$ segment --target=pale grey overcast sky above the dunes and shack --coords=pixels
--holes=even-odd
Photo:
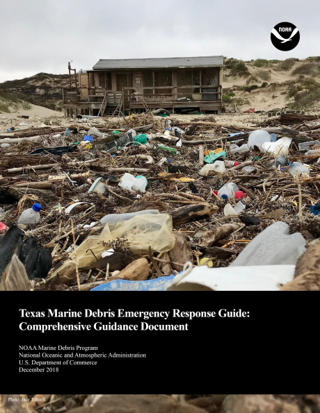
[[[1,1],[0,82],[92,69],[99,58],[223,55],[243,60],[320,56],[317,0]],[[273,47],[280,22],[296,49]]]

